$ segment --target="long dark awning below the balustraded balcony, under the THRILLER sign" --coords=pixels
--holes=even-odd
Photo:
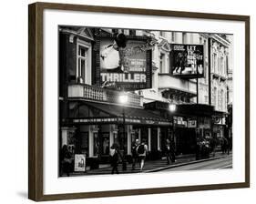
[[[170,126],[169,119],[160,117],[150,110],[136,107],[121,107],[103,103],[83,101],[82,106],[97,109],[97,116],[70,118],[71,123],[77,124],[122,124],[125,116],[125,124],[140,124],[151,126]],[[81,105],[79,105],[81,106]],[[100,112],[102,114],[100,114]],[[124,115],[123,115],[124,113]]]

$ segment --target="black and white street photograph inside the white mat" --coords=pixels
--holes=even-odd
[[[233,35],[58,26],[59,177],[232,168]]]

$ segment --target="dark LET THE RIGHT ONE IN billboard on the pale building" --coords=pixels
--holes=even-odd
[[[171,74],[180,77],[203,77],[203,45],[171,45]]]

